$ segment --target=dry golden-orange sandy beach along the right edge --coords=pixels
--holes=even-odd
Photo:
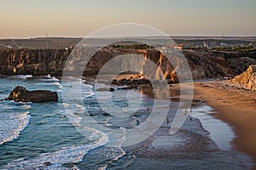
[[[214,116],[234,127],[236,139],[232,143],[237,150],[252,156],[255,164],[256,93],[232,85],[229,82],[195,82],[194,99],[205,100],[219,112]]]

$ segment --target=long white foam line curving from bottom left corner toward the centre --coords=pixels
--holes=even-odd
[[[65,167],[62,167],[63,164],[78,163],[79,161],[83,160],[83,157],[88,153],[88,151],[94,150],[108,143],[108,134],[102,133],[101,131],[91,127],[82,127],[79,124],[82,119],[81,115],[84,111],[84,107],[82,105],[70,105],[66,103],[64,103],[64,105],[69,108],[67,110],[67,116],[69,116],[70,120],[73,122],[74,126],[78,129],[80,133],[88,134],[87,136],[90,140],[90,143],[65,147],[55,152],[41,154],[29,160],[11,161],[5,167],[6,169],[65,169]],[[50,165],[44,166],[44,162],[50,162]]]

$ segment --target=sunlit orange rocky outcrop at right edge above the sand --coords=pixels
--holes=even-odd
[[[247,71],[233,78],[231,82],[246,84],[247,88],[256,90],[256,65],[250,65]]]

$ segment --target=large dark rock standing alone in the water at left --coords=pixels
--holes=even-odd
[[[58,101],[58,95],[56,92],[51,92],[49,90],[28,91],[22,86],[16,86],[9,94],[8,100],[43,103],[48,101]]]

